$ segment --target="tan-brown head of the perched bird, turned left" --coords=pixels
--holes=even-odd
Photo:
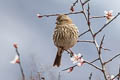
[[[57,25],[61,25],[61,24],[72,24],[72,19],[70,17],[68,17],[65,14],[61,14],[57,17],[56,19],[56,24]]]

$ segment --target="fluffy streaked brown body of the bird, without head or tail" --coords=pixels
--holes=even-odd
[[[69,49],[78,40],[78,29],[74,24],[56,25],[53,41],[57,47]]]

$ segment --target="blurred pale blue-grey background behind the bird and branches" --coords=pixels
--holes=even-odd
[[[58,80],[58,74],[62,69],[72,66],[70,57],[64,52],[60,68],[53,68],[52,64],[56,56],[56,47],[52,41],[56,17],[39,19],[36,14],[68,13],[76,0],[0,0],[0,80],[21,80],[18,64],[11,64],[16,55],[13,43],[16,42],[21,54],[21,63],[26,79],[37,76],[37,72],[46,80]],[[84,1],[84,0],[83,0]],[[120,12],[120,0],[91,0],[90,11],[92,16],[103,16],[104,11],[113,10],[113,15]],[[75,6],[75,11],[81,11],[81,5]],[[78,26],[80,33],[87,30],[84,16],[81,14],[69,15],[73,23]],[[106,19],[93,19],[91,25],[96,32],[106,23]],[[103,51],[103,59],[108,60],[120,53],[120,17],[115,19],[107,28],[97,36],[98,43],[105,34],[104,47],[112,51]],[[91,40],[90,34],[79,38]],[[88,61],[95,59],[97,55],[93,44],[78,43],[72,50],[81,53]],[[99,65],[99,62],[95,62]],[[118,73],[120,57],[109,63],[107,72],[112,75]],[[71,73],[61,72],[61,80],[88,80],[93,73],[93,80],[103,80],[101,72],[85,64],[76,67]]]

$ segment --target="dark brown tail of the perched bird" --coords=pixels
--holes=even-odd
[[[61,57],[62,57],[62,52],[63,51],[64,51],[63,49],[58,48],[57,55],[56,55],[56,58],[55,58],[53,66],[57,66],[57,67],[60,66],[60,64],[61,64]]]

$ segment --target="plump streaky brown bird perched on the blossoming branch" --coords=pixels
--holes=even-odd
[[[65,15],[59,14],[56,19],[56,27],[53,33],[53,42],[57,47],[57,54],[53,66],[61,65],[62,53],[72,48],[78,41],[78,28],[73,24],[72,19]]]

